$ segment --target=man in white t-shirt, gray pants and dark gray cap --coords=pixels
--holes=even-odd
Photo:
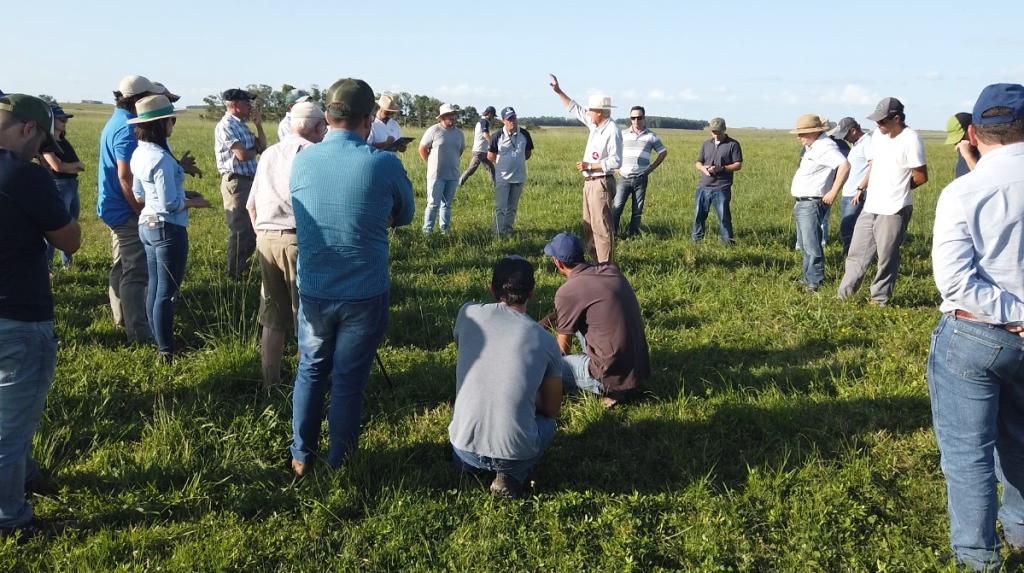
[[[867,119],[878,124],[879,133],[871,138],[871,164],[855,196],[868,186],[871,192],[853,228],[839,298],[848,299],[860,289],[867,267],[878,256],[870,303],[886,306],[896,286],[899,248],[913,212],[911,190],[928,182],[928,166],[925,143],[918,132],[906,126],[900,100],[886,97]]]

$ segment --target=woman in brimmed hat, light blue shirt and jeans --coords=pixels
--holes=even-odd
[[[171,362],[174,352],[174,302],[188,258],[188,209],[208,208],[202,195],[185,191],[184,170],[171,155],[167,138],[176,112],[163,95],[151,95],[135,104],[138,147],[131,157],[135,181],[132,190],[145,207],[138,218],[138,235],[145,248],[150,284],[145,314],[161,358]]]

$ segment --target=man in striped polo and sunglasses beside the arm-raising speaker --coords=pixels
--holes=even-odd
[[[662,143],[653,131],[647,129],[647,112],[643,105],[634,105],[630,109],[630,129],[623,132],[623,166],[618,168],[618,186],[615,187],[615,200],[612,205],[615,219],[615,233],[618,233],[618,220],[626,208],[626,200],[632,199],[633,214],[630,218],[630,229],[626,236],[640,234],[640,218],[647,199],[647,176],[665,158],[669,149]],[[657,153],[654,163],[650,163],[650,153]]]

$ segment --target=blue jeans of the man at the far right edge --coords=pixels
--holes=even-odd
[[[1024,339],[944,316],[932,334],[928,389],[946,478],[956,559],[999,568],[1001,543],[1024,547]],[[996,480],[1002,482],[999,506]]]

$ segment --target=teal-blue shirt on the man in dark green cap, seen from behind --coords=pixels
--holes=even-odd
[[[406,168],[344,129],[292,163],[292,206],[299,247],[299,294],[362,301],[391,286],[388,228],[413,220],[416,200]]]

